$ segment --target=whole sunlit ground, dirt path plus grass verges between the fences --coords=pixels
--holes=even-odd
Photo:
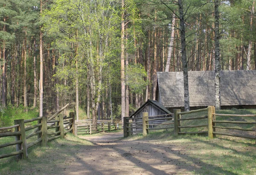
[[[253,140],[208,140],[207,136],[175,138],[166,133],[145,138],[122,138],[122,132],[81,135],[79,138],[69,134],[66,139],[49,142],[47,147],[32,149],[28,161],[0,162],[0,174],[256,175]],[[15,164],[14,169],[12,164]]]

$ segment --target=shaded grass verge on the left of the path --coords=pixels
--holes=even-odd
[[[19,171],[21,170],[22,174],[44,174],[42,171],[45,171],[45,167],[47,167],[50,174],[53,172],[58,174],[58,168],[55,165],[70,164],[70,162],[65,162],[65,160],[75,152],[78,152],[84,145],[92,146],[93,143],[68,133],[66,139],[50,141],[47,147],[33,146],[30,148],[27,161],[16,161],[15,157],[0,159],[0,174],[20,174]],[[54,161],[54,159],[57,161]]]

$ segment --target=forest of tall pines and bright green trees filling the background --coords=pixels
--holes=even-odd
[[[131,115],[157,72],[215,69],[216,3],[220,70],[256,69],[254,0],[0,0],[1,111]]]

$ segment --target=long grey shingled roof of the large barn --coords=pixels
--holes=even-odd
[[[214,71],[189,74],[190,106],[215,105]],[[256,105],[256,70],[220,71],[221,106]],[[160,104],[184,106],[183,72],[157,72]]]

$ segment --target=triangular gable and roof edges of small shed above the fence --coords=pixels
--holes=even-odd
[[[169,112],[165,107],[160,105],[160,103],[158,103],[157,101],[149,100],[148,99],[129,118],[139,118],[139,117],[142,117],[142,113],[143,112],[148,112],[148,116],[171,114],[171,112]]]

